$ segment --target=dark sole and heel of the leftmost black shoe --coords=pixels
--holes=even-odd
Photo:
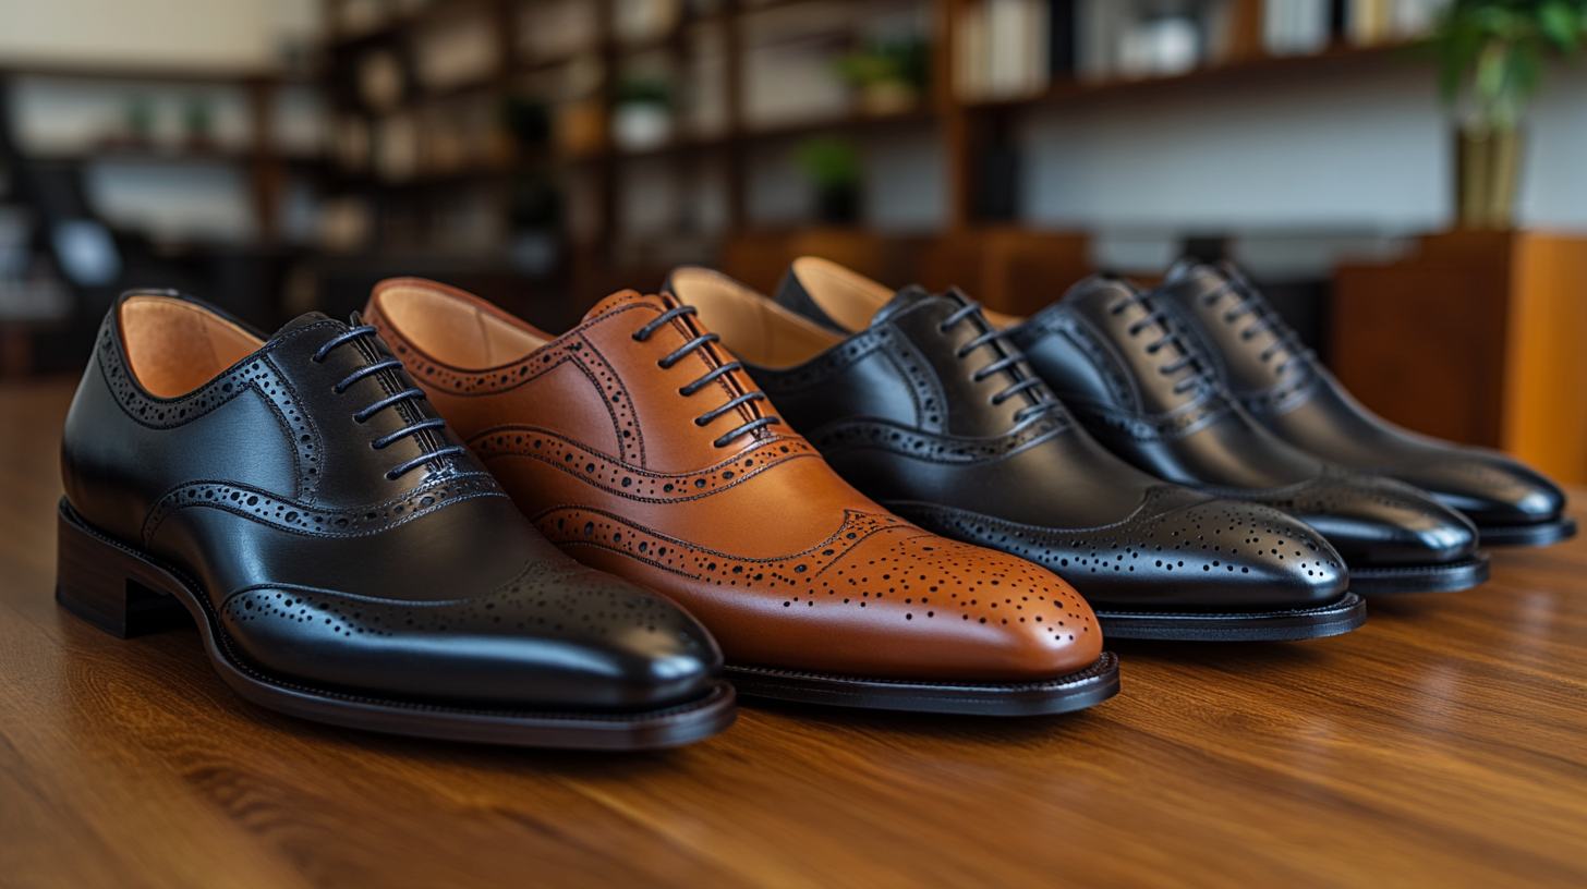
[[[708,738],[738,713],[727,683],[700,700],[635,713],[446,706],[313,687],[248,665],[197,583],[98,533],[65,498],[59,543],[56,602],[67,611],[121,638],[197,622],[209,662],[232,691],[290,716],[451,741],[635,751]]]

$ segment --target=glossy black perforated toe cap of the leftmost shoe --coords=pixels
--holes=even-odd
[[[446,600],[256,587],[221,618],[270,673],[411,700],[651,708],[705,695],[722,668],[682,610],[571,560]]]

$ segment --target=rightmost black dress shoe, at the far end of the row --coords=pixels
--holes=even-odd
[[[1497,451],[1408,432],[1363,408],[1233,267],[1181,262],[1157,297],[1251,416],[1284,441],[1427,491],[1465,513],[1484,546],[1576,537],[1565,494],[1543,475]]]

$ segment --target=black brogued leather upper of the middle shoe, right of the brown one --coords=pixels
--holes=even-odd
[[[670,286],[689,300],[690,281],[709,283],[701,275],[714,273],[679,270]],[[743,298],[767,300],[747,289]],[[836,327],[797,275],[782,300]],[[1046,565],[1098,608],[1339,598],[1343,560],[1289,516],[1151,478],[1100,448],[1044,387],[993,403],[1030,370],[1014,364],[976,379],[1014,352],[993,341],[959,357],[989,330],[979,313],[943,329],[966,305],[957,292],[911,287],[822,354],[751,373],[862,492],[944,537]]]

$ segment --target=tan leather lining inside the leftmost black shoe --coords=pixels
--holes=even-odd
[[[203,306],[152,295],[121,303],[121,338],[132,375],[160,398],[198,389],[265,344]]]

